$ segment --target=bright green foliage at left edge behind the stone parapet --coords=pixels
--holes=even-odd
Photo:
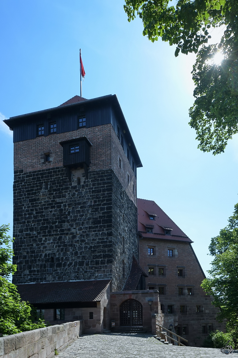
[[[12,258],[11,237],[6,233],[9,225],[0,226],[0,333],[15,334],[45,327],[42,319],[37,319],[34,309],[21,301],[17,287],[9,282],[10,274],[16,271],[16,265],[9,261]]]

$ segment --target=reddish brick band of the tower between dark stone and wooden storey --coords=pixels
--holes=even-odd
[[[83,136],[86,136],[92,143],[89,170],[112,168],[127,195],[136,205],[136,177],[111,124],[16,142],[14,143],[14,170],[23,170],[26,173],[62,166],[63,148],[59,143]],[[45,152],[52,153],[51,160],[42,163],[42,155]],[[122,168],[119,167],[119,156],[122,160]],[[127,182],[127,173],[130,175],[130,183]],[[132,192],[132,183],[134,184],[134,193]]]

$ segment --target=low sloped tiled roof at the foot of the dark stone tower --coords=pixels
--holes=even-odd
[[[111,280],[49,282],[17,285],[23,301],[31,304],[60,302],[99,302]]]

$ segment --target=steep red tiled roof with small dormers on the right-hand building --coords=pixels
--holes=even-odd
[[[193,242],[153,200],[137,199],[137,208],[138,232],[140,236],[144,238]],[[150,220],[148,213],[154,213],[156,215],[155,220]],[[146,232],[146,227],[152,227],[151,225],[154,226],[153,233]],[[164,228],[170,228],[172,230],[171,235],[166,235]]]

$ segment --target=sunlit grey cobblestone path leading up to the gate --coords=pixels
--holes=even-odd
[[[178,347],[165,345],[148,334],[83,335],[58,358],[219,358],[226,357],[215,348]],[[233,354],[233,357],[237,357]]]

